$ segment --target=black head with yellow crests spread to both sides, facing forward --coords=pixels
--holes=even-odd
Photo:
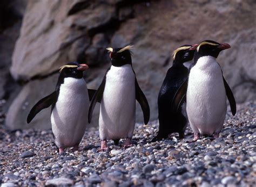
[[[132,52],[130,49],[131,45],[123,47],[123,48],[106,48],[107,51],[110,52],[110,59],[113,66],[123,66],[125,64],[132,64]]]

